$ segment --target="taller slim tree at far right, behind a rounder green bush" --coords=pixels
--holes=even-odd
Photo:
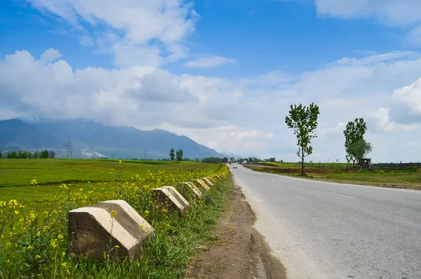
[[[355,157],[350,152],[350,147],[352,145],[355,145],[359,141],[364,139],[364,134],[366,134],[367,131],[367,125],[363,118],[356,118],[354,121],[348,122],[347,126],[344,130],[344,136],[345,136],[345,151],[348,162],[352,161],[352,166],[355,167],[355,161],[361,159],[358,157]]]

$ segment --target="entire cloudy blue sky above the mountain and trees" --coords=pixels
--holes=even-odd
[[[316,101],[312,160],[344,160],[342,130],[355,117],[368,122],[377,160],[419,160],[420,9],[417,0],[1,1],[0,118],[161,128],[282,158],[295,156],[289,105]]]

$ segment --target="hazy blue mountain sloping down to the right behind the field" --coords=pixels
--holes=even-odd
[[[129,126],[107,126],[88,120],[60,122],[24,122],[19,119],[0,121],[0,148],[65,149],[72,141],[74,156],[81,150],[93,150],[107,157],[157,159],[169,157],[171,148],[182,149],[184,157],[225,157],[196,143],[187,136],[154,129],[142,131]]]

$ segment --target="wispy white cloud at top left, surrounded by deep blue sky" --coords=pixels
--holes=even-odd
[[[81,44],[108,41],[116,65],[160,65],[162,58],[175,60],[185,53],[185,39],[194,32],[199,15],[185,0],[27,0],[34,8],[62,18],[81,32]],[[100,37],[91,39],[83,26],[98,27]],[[104,32],[105,30],[105,32]],[[110,37],[109,34],[114,34]],[[105,38],[103,38],[105,37]],[[112,40],[110,40],[112,38]],[[133,58],[133,60],[132,60]]]

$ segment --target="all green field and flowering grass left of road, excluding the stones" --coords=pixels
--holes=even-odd
[[[180,184],[213,174],[224,181],[214,180],[200,199]],[[118,160],[2,159],[0,185],[0,278],[45,279],[183,278],[193,248],[215,239],[211,231],[232,189],[223,164]],[[189,200],[182,218],[156,206],[152,188],[161,186]],[[67,213],[105,200],[125,200],[154,227],[138,259],[113,257],[119,245],[101,263],[69,257]]]

